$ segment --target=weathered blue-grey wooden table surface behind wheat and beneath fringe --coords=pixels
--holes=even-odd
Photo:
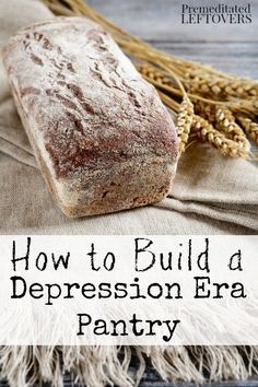
[[[89,0],[104,15],[137,36],[166,50],[191,60],[210,62],[218,69],[258,79],[258,1],[249,0],[253,23],[249,25],[185,25],[181,4],[214,5],[213,0]],[[237,1],[227,0],[235,4]],[[137,367],[137,362],[132,364]],[[7,387],[0,382],[0,387]],[[71,385],[64,377],[64,387]],[[140,387],[172,387],[162,382],[149,364]],[[194,387],[181,384],[180,387]],[[206,385],[208,386],[208,385]],[[247,382],[214,383],[216,387],[258,387],[258,378]],[[17,386],[20,387],[20,386]],[[120,386],[119,386],[120,387]]]

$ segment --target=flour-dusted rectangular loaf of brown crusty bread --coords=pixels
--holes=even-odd
[[[3,50],[35,156],[68,216],[157,202],[175,175],[172,118],[113,38],[85,17],[16,33]]]

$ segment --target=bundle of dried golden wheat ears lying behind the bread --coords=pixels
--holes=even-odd
[[[258,142],[258,81],[160,51],[83,0],[42,1],[57,15],[85,15],[113,35],[141,74],[156,87],[164,104],[177,113],[180,152],[195,136],[223,155],[250,157],[247,137]]]

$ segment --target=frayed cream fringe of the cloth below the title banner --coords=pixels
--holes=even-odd
[[[138,359],[138,372],[130,370]],[[10,387],[63,386],[64,373],[87,387],[138,386],[150,359],[173,383],[246,379],[258,375],[258,347],[1,347],[1,377]]]

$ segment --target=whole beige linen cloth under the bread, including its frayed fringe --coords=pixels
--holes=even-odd
[[[0,1],[0,45],[19,27],[52,17],[37,1]],[[1,62],[1,61],[0,61]],[[69,220],[52,203],[9,92],[0,64],[0,227],[1,233],[28,234],[254,234],[258,230],[258,169],[245,160],[230,160],[204,144],[181,156],[169,197],[162,203],[117,214]],[[131,352],[139,373],[128,373]],[[61,385],[70,371],[89,387],[115,383],[134,386],[148,354],[162,377],[203,382],[245,378],[255,372],[257,348],[236,347],[4,347],[1,375],[12,386],[40,378]],[[244,360],[244,352],[246,359]],[[62,364],[62,367],[60,366]],[[37,384],[38,385],[38,382]]]

